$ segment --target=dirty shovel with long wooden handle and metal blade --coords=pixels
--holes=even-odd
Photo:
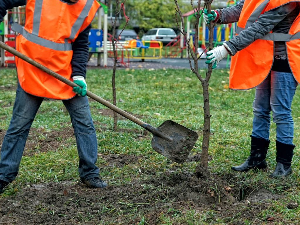
[[[23,59],[24,61],[34,65],[35,67],[43,70],[49,75],[54,76],[61,82],[64,82],[65,84],[71,87],[78,86],[74,82],[64,78],[58,73],[55,73],[49,68],[34,61],[32,58],[29,58],[28,56],[23,55],[21,52],[16,51],[16,49],[13,49],[12,47],[4,44],[2,41],[0,41],[0,47],[12,53],[13,55],[16,55],[17,57]],[[141,126],[147,131],[151,132],[153,134],[151,142],[152,148],[159,154],[169,158],[170,160],[176,163],[183,163],[186,161],[190,150],[193,148],[196,140],[198,139],[198,134],[195,131],[192,131],[172,120],[167,120],[164,123],[162,123],[158,128],[156,128],[141,121],[140,119],[137,119],[131,114],[125,112],[124,110],[121,110],[120,108],[104,100],[103,98],[100,98],[99,96],[95,95],[90,91],[87,91],[86,95],[94,99],[95,101],[98,101],[99,103],[103,104],[104,106],[110,108],[116,113],[119,113],[125,118],[131,120],[132,122],[136,123],[137,125]]]

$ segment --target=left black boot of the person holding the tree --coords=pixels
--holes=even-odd
[[[231,170],[247,172],[254,168],[265,169],[267,168],[267,162],[265,156],[267,155],[270,141],[266,141],[262,138],[251,137],[251,149],[250,156],[240,166],[231,167]]]

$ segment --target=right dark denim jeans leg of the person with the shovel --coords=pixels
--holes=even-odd
[[[79,155],[79,176],[90,179],[99,176],[99,168],[95,165],[98,154],[96,131],[91,118],[87,97],[76,95],[74,98],[63,101],[67,108]]]

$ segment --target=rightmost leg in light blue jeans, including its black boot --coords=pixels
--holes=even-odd
[[[292,73],[271,72],[271,98],[273,122],[276,123],[276,167],[270,177],[288,176],[292,173],[294,122],[292,100],[297,82]]]

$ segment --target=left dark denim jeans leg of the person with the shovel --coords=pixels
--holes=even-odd
[[[13,115],[0,154],[0,180],[12,182],[18,172],[29,129],[44,98],[30,95],[18,84]]]

